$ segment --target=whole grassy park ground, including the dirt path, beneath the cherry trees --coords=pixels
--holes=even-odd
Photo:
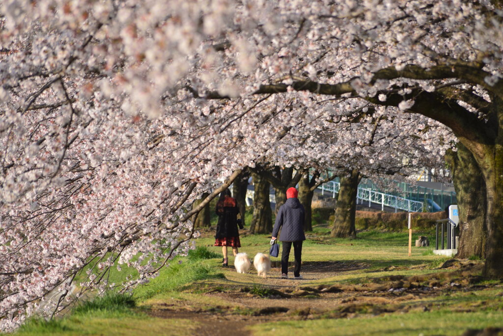
[[[247,330],[256,335],[459,335],[468,328],[503,327],[501,282],[477,278],[476,269],[450,280],[446,274],[458,269],[439,269],[448,258],[433,255],[433,248],[412,247],[412,256],[407,256],[407,232],[364,231],[357,239],[334,239],[326,226],[316,226],[307,234],[302,256],[305,268],[318,276],[300,283],[282,282],[274,274],[258,278],[253,267],[247,274],[222,268],[221,247],[213,246],[213,234],[203,232],[196,242],[198,249],[189,257],[177,257],[157,278],[130,296],[119,296],[124,303],[86,303],[88,308],[75,308],[50,322],[32,319],[15,334],[189,335],[217,330],[221,325],[217,322],[222,321],[236,323],[237,333]],[[433,240],[431,232],[414,232],[414,239],[417,235]],[[269,235],[242,234],[240,251],[253,258],[269,248],[269,240]],[[481,262],[473,263],[476,267]],[[317,265],[332,269],[324,274],[316,271]],[[123,270],[111,277],[124,278],[128,270]],[[436,285],[417,280],[415,287],[403,291],[351,289],[385,284],[393,277],[407,282],[412,276],[432,273],[444,274],[447,280],[435,279]],[[469,281],[460,285],[460,279]],[[337,293],[316,290],[330,286],[346,287]],[[307,293],[308,287],[313,292]]]

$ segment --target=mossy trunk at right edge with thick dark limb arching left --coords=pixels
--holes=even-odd
[[[483,79],[482,79],[483,80]],[[489,100],[480,102],[484,120],[440,93],[414,92],[411,112],[447,125],[473,155],[486,188],[485,264],[483,275],[503,279],[503,87],[491,88]],[[456,92],[445,91],[457,99]],[[475,96],[473,96],[475,97]],[[403,97],[390,95],[386,104],[397,106]],[[474,101],[475,102],[475,101]],[[477,103],[478,104],[478,103]],[[439,139],[441,140],[441,139]],[[473,197],[473,196],[471,196]]]

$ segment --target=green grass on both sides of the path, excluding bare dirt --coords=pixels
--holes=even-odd
[[[359,232],[357,239],[331,238],[328,232],[326,225],[318,225],[308,234],[308,239],[303,244],[303,262],[338,262],[358,267],[334,273],[330,278],[306,282],[306,285],[363,284],[390,275],[411,276],[446,272],[435,268],[450,259],[433,255],[432,248],[415,246],[412,246],[412,256],[408,257],[407,232],[366,230]],[[429,234],[431,232],[413,232],[413,237]],[[240,240],[242,247],[239,251],[246,252],[253,258],[257,252],[269,249],[270,234],[246,235],[241,236]],[[254,309],[226,301],[223,295],[204,294],[210,291],[237,291],[240,287],[247,286],[250,288],[250,294],[261,297],[256,300],[270,296],[271,287],[264,282],[267,280],[258,279],[253,272],[237,274],[231,267],[222,268],[221,247],[213,246],[213,243],[212,234],[198,238],[197,248],[191,250],[187,257],[177,257],[170,261],[170,265],[162,268],[156,278],[135,288],[130,296],[110,293],[105,297],[84,302],[74,308],[71,314],[48,322],[32,318],[15,335],[195,334],[198,324],[194,321],[161,319],[145,314],[149,308],[165,309],[166,305],[214,308],[217,309],[215,311],[228,308],[236,314],[250,314]],[[229,250],[229,265],[233,264],[233,258]],[[388,268],[389,266],[394,267]],[[110,277],[122,279],[131,272],[127,268],[123,268],[122,272],[112,268]],[[452,293],[447,291],[403,303],[425,305],[430,307],[429,311],[411,309],[406,313],[371,316],[367,314],[371,312],[369,308],[368,311],[359,310],[359,315],[348,316],[350,319],[331,318],[328,312],[327,318],[290,319],[257,324],[250,328],[260,335],[286,335],[299,331],[306,335],[458,335],[467,328],[502,326],[503,322],[499,322],[503,320],[501,283],[485,281],[479,284],[496,288]],[[310,297],[310,300],[315,298]]]

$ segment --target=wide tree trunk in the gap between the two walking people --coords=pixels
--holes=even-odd
[[[273,230],[271,202],[269,189],[271,184],[259,174],[252,173],[255,196],[253,199],[253,218],[251,219],[251,233],[269,233]]]

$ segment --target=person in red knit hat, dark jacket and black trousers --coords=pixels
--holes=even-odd
[[[288,188],[286,191],[287,200],[280,207],[273,228],[272,241],[276,239],[281,229],[280,241],[283,243],[281,277],[283,279],[288,279],[288,259],[290,258],[292,244],[295,257],[293,278],[302,279],[300,264],[302,261],[302,241],[306,240],[306,236],[304,235],[305,211],[297,196],[297,189]]]

